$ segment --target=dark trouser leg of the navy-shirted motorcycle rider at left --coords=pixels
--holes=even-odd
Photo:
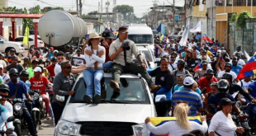
[[[28,129],[29,129],[31,135],[35,135],[36,134],[36,127],[35,127],[35,124],[32,120],[31,114],[29,113],[29,111],[27,109],[23,109],[23,116],[24,116],[24,119],[26,120],[26,123],[28,125]]]

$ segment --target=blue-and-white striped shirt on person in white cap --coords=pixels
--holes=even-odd
[[[198,95],[197,92],[187,88],[173,93],[172,102],[174,107],[177,105],[178,101],[186,102],[188,106],[190,106],[190,112],[188,113],[190,116],[197,115],[197,109],[202,108],[201,96]]]

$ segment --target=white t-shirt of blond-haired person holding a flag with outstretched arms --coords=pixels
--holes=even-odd
[[[189,121],[189,122],[192,125],[192,129],[183,129],[182,127],[180,127],[180,125],[176,121],[169,121],[167,123],[159,125],[158,127],[155,127],[150,122],[146,125],[150,132],[157,135],[168,134],[169,136],[173,136],[173,135],[181,136],[183,134],[187,134],[191,132],[194,129],[199,129],[204,134],[206,133],[208,129],[208,125],[206,124],[206,121],[203,121],[202,124],[198,124],[197,122],[194,122],[194,121]]]

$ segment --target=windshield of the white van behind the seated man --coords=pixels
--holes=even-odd
[[[128,39],[135,44],[151,44],[153,45],[152,35],[128,35]]]

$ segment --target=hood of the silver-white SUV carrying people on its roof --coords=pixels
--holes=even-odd
[[[70,122],[116,121],[142,124],[146,117],[154,117],[153,113],[155,111],[151,105],[70,103],[62,119]]]

